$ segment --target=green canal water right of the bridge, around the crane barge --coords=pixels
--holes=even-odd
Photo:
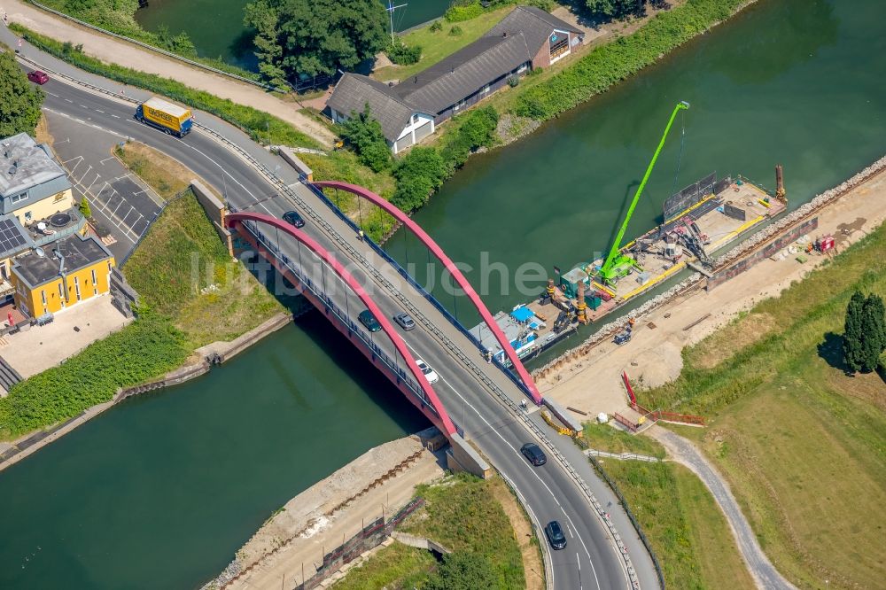
[[[492,311],[510,309],[541,289],[535,281],[517,292],[521,264],[553,275],[555,265],[565,272],[607,249],[680,100],[691,108],[677,190],[715,170],[772,187],[781,162],[796,208],[886,153],[884,20],[882,0],[763,0],[532,136],[472,157],[414,219],[474,268],[467,276]],[[661,221],[680,123],[627,238]],[[398,232],[385,247],[419,263],[424,279],[427,256],[414,238]],[[503,264],[508,278],[478,272],[483,257]],[[435,292],[454,308],[451,295]],[[469,307],[455,303],[470,326],[478,319]]]

